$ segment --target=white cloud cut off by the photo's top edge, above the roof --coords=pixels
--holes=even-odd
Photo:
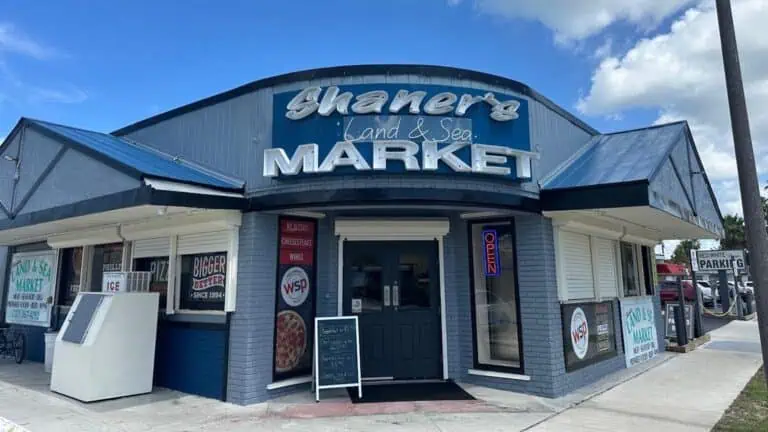
[[[461,0],[448,0],[456,5]],[[565,43],[585,39],[617,22],[629,22],[645,30],[692,0],[474,0],[486,14],[539,21]]]

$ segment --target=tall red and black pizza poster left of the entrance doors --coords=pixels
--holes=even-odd
[[[280,219],[275,308],[275,381],[312,371],[316,223]]]

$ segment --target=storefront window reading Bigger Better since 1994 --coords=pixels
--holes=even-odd
[[[183,255],[179,307],[223,311],[226,281],[226,252]]]

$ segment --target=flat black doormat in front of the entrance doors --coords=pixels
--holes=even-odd
[[[347,388],[352,403],[417,402],[435,400],[475,400],[453,381],[413,384],[381,384],[363,386],[363,398],[357,397],[357,387]]]

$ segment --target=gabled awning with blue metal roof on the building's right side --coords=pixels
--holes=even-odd
[[[686,122],[594,137],[543,179],[541,204],[552,217],[630,226],[654,240],[723,235]]]

